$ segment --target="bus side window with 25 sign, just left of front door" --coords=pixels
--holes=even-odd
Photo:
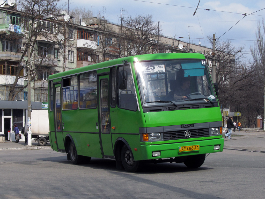
[[[96,71],[84,73],[79,76],[80,109],[89,109],[97,107],[96,90],[97,90]]]

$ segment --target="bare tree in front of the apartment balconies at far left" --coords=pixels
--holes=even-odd
[[[37,68],[40,70],[41,63],[46,61],[46,63],[50,63],[49,57],[47,54],[49,51],[53,50],[55,45],[58,45],[60,41],[58,41],[56,34],[51,34],[57,31],[57,25],[50,21],[42,21],[45,16],[48,15],[56,15],[58,14],[58,9],[56,8],[57,3],[60,0],[19,0],[18,1],[18,9],[20,10],[21,16],[21,25],[24,27],[25,31],[18,33],[12,33],[8,37],[10,40],[14,40],[17,43],[21,44],[24,47],[24,51],[21,54],[21,58],[19,63],[22,63],[25,59],[25,56],[28,53],[28,49],[30,49],[30,57],[31,60],[27,60],[27,62],[34,62],[36,65],[32,66],[30,69],[32,75],[31,80],[36,77]],[[34,22],[34,23],[33,23]],[[45,30],[45,31],[44,31]],[[45,40],[52,43],[49,46],[43,46],[39,48],[37,45],[38,38],[45,38]],[[52,65],[52,64],[51,64]],[[21,70],[23,70],[24,66],[18,64],[16,67],[15,73],[15,81],[10,86],[8,100],[14,100],[17,94],[19,94],[24,88],[16,89],[16,84],[18,80],[22,77]]]

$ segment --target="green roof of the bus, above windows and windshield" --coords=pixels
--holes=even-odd
[[[119,65],[119,64],[122,64],[123,60],[127,60],[128,62],[133,62],[136,60],[144,61],[144,60],[156,60],[156,59],[205,59],[205,57],[201,53],[157,53],[157,54],[134,55],[130,57],[123,57],[123,58],[113,59],[113,60],[109,60],[105,62],[100,62],[100,63],[92,64],[89,66],[84,66],[81,68],[76,68],[76,69],[65,71],[65,72],[56,73],[56,74],[50,75],[48,79],[51,80],[51,79],[56,79],[56,78],[73,75],[73,74],[77,74],[81,72],[86,72],[90,70],[96,70],[100,68],[106,68],[106,67],[111,67],[114,65]]]

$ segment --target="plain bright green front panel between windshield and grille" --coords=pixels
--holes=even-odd
[[[222,121],[219,107],[144,113],[146,127]]]

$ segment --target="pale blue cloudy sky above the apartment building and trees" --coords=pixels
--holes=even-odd
[[[58,5],[64,7],[65,11],[68,10],[68,2],[69,9],[86,7],[95,16],[104,16],[109,22],[116,24],[121,23],[121,13],[132,17],[149,14],[166,37],[175,37],[193,44],[200,42],[202,46],[211,48],[207,36],[212,38],[215,34],[219,41],[230,40],[236,48],[244,47],[242,53],[245,53],[246,60],[251,59],[250,46],[255,45],[258,22],[265,19],[265,1],[199,1],[61,0]],[[198,9],[193,15],[197,5]]]

